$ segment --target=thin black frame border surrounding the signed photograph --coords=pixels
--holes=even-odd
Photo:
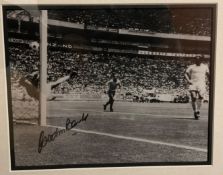
[[[64,165],[44,165],[44,166],[16,166],[15,165],[15,148],[14,148],[14,130],[13,130],[13,117],[12,117],[12,97],[11,97],[11,84],[10,84],[10,68],[9,68],[9,55],[8,55],[8,34],[7,34],[7,10],[18,10],[25,8],[38,8],[39,10],[52,10],[52,9],[115,9],[115,8],[145,8],[145,5],[76,5],[76,6],[45,6],[45,5],[24,5],[24,6],[3,6],[3,17],[4,17],[4,38],[5,38],[5,53],[6,53],[6,74],[7,74],[7,88],[8,88],[8,108],[9,108],[9,132],[10,132],[10,151],[11,151],[11,169],[12,170],[37,170],[37,169],[64,169],[64,168],[102,168],[102,167],[134,167],[134,166],[192,166],[192,165],[211,165],[213,163],[213,118],[214,118],[214,94],[215,94],[215,42],[216,42],[216,4],[185,4],[185,5],[148,5],[148,8],[209,8],[212,13],[212,22],[211,22],[211,43],[210,43],[210,103],[208,107],[208,153],[207,161],[196,161],[196,162],[147,162],[147,163],[100,163],[100,164],[64,164]]]

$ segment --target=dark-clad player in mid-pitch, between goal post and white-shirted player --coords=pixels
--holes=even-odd
[[[110,104],[110,112],[113,112],[115,92],[116,92],[116,89],[117,89],[118,86],[119,86],[119,88],[121,88],[121,82],[114,75],[112,77],[112,79],[107,83],[107,86],[108,86],[108,92],[107,93],[108,93],[109,100],[106,104],[103,105],[103,107],[104,107],[104,110],[106,110],[107,105]]]

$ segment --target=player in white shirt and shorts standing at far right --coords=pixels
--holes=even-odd
[[[196,63],[190,65],[185,73],[185,78],[189,83],[192,108],[196,120],[200,117],[200,108],[206,92],[206,76],[209,75],[209,69],[206,64],[201,63],[203,56],[196,58]]]

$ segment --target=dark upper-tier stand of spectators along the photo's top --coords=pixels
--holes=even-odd
[[[20,22],[38,22],[39,17],[32,17],[32,13],[34,12],[24,13],[20,10],[13,13],[12,11],[9,12],[8,18],[20,19]],[[136,32],[176,33],[200,36],[211,35],[210,14],[202,9],[179,10],[177,8],[171,10],[168,8],[49,10],[50,19],[84,24],[85,26],[130,29]]]

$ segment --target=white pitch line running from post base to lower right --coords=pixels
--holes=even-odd
[[[65,129],[65,127],[61,127],[61,126],[53,126],[53,125],[46,125],[46,126],[53,127],[53,128],[59,128],[59,129]],[[96,134],[96,135],[101,135],[101,136],[113,137],[113,138],[117,138],[117,139],[131,140],[131,141],[137,141],[137,142],[143,142],[143,143],[151,143],[151,144],[155,144],[155,145],[164,145],[164,146],[169,146],[169,147],[183,148],[183,149],[187,149],[187,150],[194,150],[194,151],[207,153],[207,149],[193,147],[193,146],[186,146],[186,145],[181,145],[181,144],[167,143],[167,142],[142,139],[142,138],[137,138],[137,137],[122,136],[122,135],[116,135],[116,134],[109,134],[109,133],[104,133],[104,132],[83,130],[83,129],[74,129],[73,128],[71,130],[81,132],[81,133]]]

